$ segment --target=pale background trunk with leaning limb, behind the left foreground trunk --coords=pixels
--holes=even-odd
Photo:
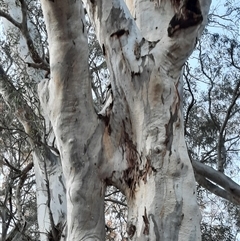
[[[24,1],[23,1],[24,2]],[[24,2],[27,4],[26,2]],[[34,62],[32,59],[33,55],[30,54],[30,50],[27,44],[29,39],[26,39],[26,36],[29,34],[29,38],[38,39],[38,33],[31,23],[29,23],[27,19],[27,12],[22,12],[20,7],[17,7],[15,1],[8,1],[9,7],[9,17],[13,20],[9,21],[8,18],[3,20],[4,32],[6,34],[6,39],[9,38],[7,35],[8,32],[12,34],[19,35],[19,42],[15,46],[15,49],[11,49],[11,51],[18,54],[22,60],[25,62]],[[22,7],[22,10],[24,7]],[[25,9],[26,10],[26,9]],[[1,12],[2,15],[2,12]],[[15,25],[13,22],[16,21]],[[28,29],[23,28],[24,25],[28,26]],[[18,28],[20,27],[21,30]],[[24,30],[23,30],[24,29]],[[21,31],[25,31],[22,32]],[[31,40],[30,40],[31,41]],[[37,44],[36,44],[37,45]],[[32,50],[34,46],[32,47]],[[39,51],[39,56],[42,55],[42,49],[37,49]],[[17,71],[15,68],[19,68],[15,65],[11,66],[11,70],[9,71]],[[25,68],[25,66],[22,66]],[[28,68],[27,72],[29,74],[29,78],[34,79],[37,82],[44,76],[44,72],[42,70],[35,70],[32,68]],[[19,121],[22,123],[25,132],[29,135],[29,143],[33,149],[33,162],[34,162],[34,170],[36,174],[36,196],[37,196],[37,207],[38,207],[38,225],[41,241],[48,240],[49,233],[53,235],[53,226],[57,228],[57,233],[64,235],[62,233],[62,228],[66,225],[66,194],[65,194],[65,179],[62,173],[62,166],[60,163],[59,157],[55,156],[51,153],[48,143],[38,142],[41,139],[41,136],[38,132],[40,130],[36,129],[35,123],[29,120],[29,116],[35,116],[35,111],[32,110],[28,103],[24,100],[22,96],[19,96],[17,90],[10,83],[10,80],[7,78],[4,71],[0,73],[0,92],[3,96],[5,102],[15,111],[15,114]],[[18,99],[19,104],[16,103],[16,99]],[[28,115],[28,117],[26,117]],[[37,117],[32,118],[37,119]],[[37,133],[36,135],[34,133]],[[37,144],[36,144],[37,143]],[[47,172],[47,176],[46,176]],[[46,178],[48,180],[46,181]],[[50,192],[50,197],[48,193]],[[50,199],[50,200],[49,200]],[[21,214],[21,207],[19,207],[19,215]],[[53,223],[51,223],[51,217],[53,218]],[[21,217],[24,220],[24,216]],[[25,226],[25,224],[23,224]]]

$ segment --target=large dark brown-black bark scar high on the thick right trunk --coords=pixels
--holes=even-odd
[[[199,0],[185,0],[168,26],[168,36],[172,37],[177,30],[186,29],[203,21]]]

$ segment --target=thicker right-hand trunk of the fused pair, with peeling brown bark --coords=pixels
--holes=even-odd
[[[132,15],[123,1],[100,2],[85,4],[112,74],[114,119],[111,116],[109,126],[112,132],[127,133],[124,140],[119,137],[125,146],[122,162],[128,165],[122,178],[126,186],[119,184],[119,177],[116,185],[128,196],[129,236],[134,240],[200,240],[200,214],[178,89],[182,66],[206,22],[210,1],[201,2],[203,23],[180,29],[171,38],[167,29],[175,12],[170,1],[162,1],[159,7],[149,1],[127,1]],[[124,32],[120,35],[119,30]],[[120,109],[121,114],[117,113]]]

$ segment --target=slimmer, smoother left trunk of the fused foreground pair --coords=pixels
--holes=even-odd
[[[82,4],[42,1],[42,7],[51,68],[45,90],[66,178],[67,237],[103,240],[105,184],[98,169],[102,124],[98,124],[91,100]]]

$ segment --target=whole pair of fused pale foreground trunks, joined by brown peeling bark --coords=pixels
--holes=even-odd
[[[210,1],[84,3],[111,73],[98,115],[82,3],[42,0],[51,61],[44,105],[66,179],[67,240],[104,240],[106,185],[127,196],[131,240],[200,240],[181,75]]]

